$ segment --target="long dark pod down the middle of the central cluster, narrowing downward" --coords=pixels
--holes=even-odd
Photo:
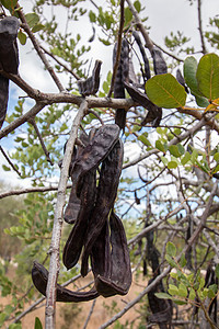
[[[92,247],[101,234],[116,198],[123,166],[123,143],[119,139],[102,163],[96,203],[89,220],[84,240],[81,264],[81,274],[83,276],[88,273],[88,259]]]

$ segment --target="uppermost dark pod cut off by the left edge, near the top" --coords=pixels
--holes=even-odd
[[[4,71],[16,75],[19,67],[19,52],[16,36],[20,23],[14,16],[0,21],[0,63]]]

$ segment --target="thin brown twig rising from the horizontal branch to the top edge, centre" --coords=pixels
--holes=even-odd
[[[125,22],[125,19],[124,19],[124,0],[120,0],[120,21],[119,21],[119,29],[118,29],[116,60],[115,60],[114,68],[113,68],[111,88],[110,88],[107,98],[111,98],[111,95],[112,95],[112,92],[113,92],[113,89],[114,89],[114,83],[115,83],[115,78],[116,78],[116,72],[117,72],[118,65],[119,65],[124,22]]]

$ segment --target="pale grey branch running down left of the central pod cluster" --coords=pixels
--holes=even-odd
[[[61,166],[60,180],[57,193],[57,203],[55,208],[54,216],[54,227],[51,236],[51,245],[49,249],[50,253],[50,263],[49,263],[49,274],[48,283],[46,288],[46,310],[45,310],[45,328],[54,329],[56,322],[56,288],[57,288],[57,279],[59,272],[59,245],[61,237],[61,227],[62,227],[62,212],[66,202],[66,186],[69,177],[69,166],[72,157],[73,145],[78,135],[78,128],[80,123],[88,111],[88,103],[84,100],[77,113],[77,116],[73,121],[69,140],[66,146],[66,151],[64,156],[64,161]]]

